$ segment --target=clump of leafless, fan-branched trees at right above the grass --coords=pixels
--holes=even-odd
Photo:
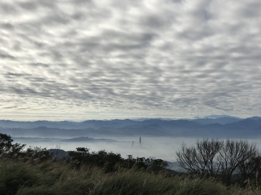
[[[195,146],[182,143],[176,154],[180,167],[220,178],[226,185],[255,177],[261,165],[256,143],[244,139],[197,139]]]

